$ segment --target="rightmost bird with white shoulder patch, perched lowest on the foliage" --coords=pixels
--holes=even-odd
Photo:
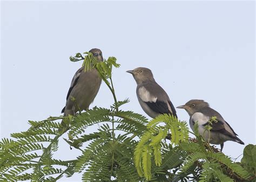
[[[224,142],[233,141],[244,145],[224,118],[214,109],[210,108],[209,104],[204,100],[190,100],[183,106],[177,108],[185,109],[190,115],[190,127],[194,131],[194,124],[198,122],[198,132],[206,141],[211,144],[220,144],[220,151],[223,150]],[[213,121],[210,124],[208,121],[215,116],[217,122]],[[212,127],[210,132],[205,129],[206,125]]]

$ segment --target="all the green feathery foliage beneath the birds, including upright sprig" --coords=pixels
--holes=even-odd
[[[120,110],[129,100],[118,101],[114,92],[112,67],[120,66],[116,58],[98,62],[90,52],[84,54],[77,53],[70,60],[84,60],[84,71],[97,69],[113,95],[112,106],[29,121],[27,131],[3,138],[0,180],[56,181],[75,173],[83,173],[85,181],[255,180],[255,145],[247,145],[241,163],[235,163],[198,134],[197,123],[196,138],[188,138],[187,123],[176,117],[164,114],[149,122],[143,115]],[[215,118],[209,121],[208,130],[212,122]],[[98,129],[92,131],[93,126]],[[55,155],[65,133],[70,148],[82,152],[73,160]]]

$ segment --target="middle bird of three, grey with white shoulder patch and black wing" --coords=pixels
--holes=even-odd
[[[160,114],[171,114],[177,117],[169,96],[154,80],[150,69],[138,67],[127,71],[127,73],[131,73],[137,82],[137,97],[140,106],[147,115],[152,118]]]

